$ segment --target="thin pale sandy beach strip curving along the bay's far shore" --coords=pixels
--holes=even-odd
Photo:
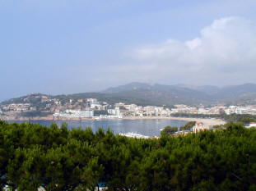
[[[193,118],[193,117],[177,117],[177,116],[130,116],[123,118],[67,118],[67,117],[0,117],[3,121],[102,121],[102,120],[174,120],[174,121],[196,121],[202,122],[204,125],[223,125],[226,121],[217,118]]]

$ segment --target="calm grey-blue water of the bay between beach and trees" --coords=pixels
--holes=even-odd
[[[14,122],[14,121],[10,121]],[[18,123],[24,121],[16,121]],[[176,120],[100,120],[100,121],[30,121],[31,123],[40,123],[41,125],[51,125],[52,122],[57,123],[57,125],[62,125],[64,122],[67,123],[68,128],[86,129],[86,127],[91,127],[95,132],[100,127],[104,130],[110,128],[114,131],[114,134],[118,133],[128,133],[133,132],[137,134],[143,134],[147,136],[160,136],[161,129],[165,126],[182,126],[185,125],[186,121],[176,121]]]

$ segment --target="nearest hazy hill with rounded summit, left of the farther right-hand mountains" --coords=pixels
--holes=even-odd
[[[103,93],[122,97],[127,96],[129,98],[143,98],[160,105],[196,105],[211,102],[207,93],[196,89],[179,87],[178,85],[131,83],[106,89]]]

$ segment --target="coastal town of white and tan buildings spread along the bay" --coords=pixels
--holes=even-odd
[[[127,119],[133,117],[170,117],[174,114],[250,114],[256,115],[256,105],[226,106],[223,104],[210,107],[177,104],[172,107],[138,106],[117,102],[109,104],[96,98],[60,99],[43,94],[30,94],[15,102],[3,102],[0,105],[2,119],[21,119],[48,117],[50,120],[76,119]]]

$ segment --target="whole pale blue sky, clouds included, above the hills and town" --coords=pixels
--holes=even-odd
[[[0,0],[0,102],[130,82],[256,83],[255,0]]]

